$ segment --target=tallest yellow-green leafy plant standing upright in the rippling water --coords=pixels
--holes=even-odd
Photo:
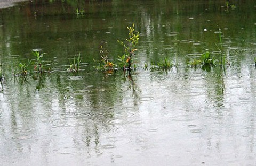
[[[132,69],[132,57],[135,55],[134,52],[137,50],[135,46],[139,42],[139,32],[135,33],[135,25],[132,24],[132,27],[127,27],[129,30],[129,38],[126,41],[129,42],[129,45],[126,45],[123,41],[117,40],[124,47],[124,55],[118,56],[117,60],[119,61],[119,66],[123,65],[123,70],[131,71]]]

